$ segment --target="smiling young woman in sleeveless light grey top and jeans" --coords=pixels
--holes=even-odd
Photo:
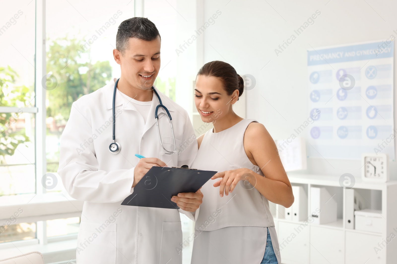
[[[222,61],[197,74],[195,105],[214,129],[198,137],[192,167],[218,173],[201,188],[192,264],[281,264],[268,201],[290,207],[294,197],[264,125],[233,112],[243,89],[243,78]]]

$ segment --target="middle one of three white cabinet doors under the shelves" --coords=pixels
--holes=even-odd
[[[344,259],[343,231],[312,224],[310,226],[310,264],[341,264],[344,263]]]

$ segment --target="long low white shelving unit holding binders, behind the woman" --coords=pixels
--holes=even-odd
[[[397,181],[367,183],[355,179],[353,189],[364,201],[362,209],[382,215],[382,233],[346,226],[346,189],[339,177],[287,173],[292,185],[303,186],[311,217],[310,187],[325,187],[337,202],[337,221],[312,224],[286,220],[285,208],[270,203],[282,264],[395,264],[397,263]],[[351,213],[351,212],[348,212]]]

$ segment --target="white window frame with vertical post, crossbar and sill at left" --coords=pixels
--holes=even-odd
[[[46,174],[46,90],[41,86],[41,80],[46,75],[46,0],[35,0],[35,106],[15,107],[0,106],[0,112],[13,113],[23,111],[35,114],[35,193],[0,196],[0,223],[6,222],[13,212],[23,208],[23,216],[18,217],[13,224],[23,222],[36,223],[36,238],[0,243],[0,250],[15,246],[33,244],[45,245],[48,242],[76,239],[77,234],[47,238],[46,220],[81,217],[83,201],[71,198],[67,193],[49,193],[41,184],[41,177]],[[60,195],[62,195],[60,197]],[[55,199],[54,199],[55,198]],[[25,200],[25,202],[21,202]],[[45,205],[45,206],[43,206]],[[48,213],[48,208],[58,208]],[[61,211],[60,211],[60,210]]]

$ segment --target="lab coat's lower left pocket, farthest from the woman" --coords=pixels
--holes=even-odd
[[[80,223],[77,263],[116,263],[116,224]]]

